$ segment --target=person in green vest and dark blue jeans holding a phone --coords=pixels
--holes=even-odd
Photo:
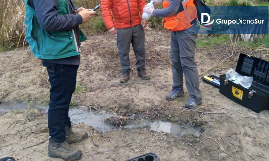
[[[47,67],[51,85],[48,156],[77,160],[82,151],[71,147],[70,143],[88,137],[86,132],[74,132],[68,117],[71,97],[76,89],[80,42],[86,40],[79,24],[89,22],[96,12],[76,9],[71,0],[24,1],[26,40],[34,56]]]

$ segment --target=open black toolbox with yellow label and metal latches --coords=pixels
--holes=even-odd
[[[220,75],[219,92],[236,103],[259,113],[269,110],[269,62],[259,58],[240,54],[236,72],[242,76],[253,76],[249,89]]]

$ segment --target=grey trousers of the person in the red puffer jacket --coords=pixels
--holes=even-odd
[[[141,25],[131,28],[117,29],[117,46],[120,56],[122,72],[130,72],[130,44],[134,50],[137,70],[145,69],[145,32]]]

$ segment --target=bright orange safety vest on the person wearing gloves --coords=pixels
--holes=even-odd
[[[180,12],[177,14],[165,17],[163,19],[164,28],[167,28],[169,31],[182,31],[191,27],[197,19],[197,10],[194,5],[195,0],[183,0]],[[169,6],[170,1],[163,2],[163,8]]]

